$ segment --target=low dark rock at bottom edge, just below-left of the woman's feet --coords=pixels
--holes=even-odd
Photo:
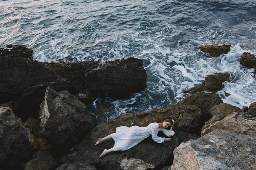
[[[96,168],[84,161],[78,161],[75,163],[67,162],[62,164],[56,170],[96,170]]]

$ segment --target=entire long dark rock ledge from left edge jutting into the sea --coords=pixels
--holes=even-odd
[[[0,105],[17,102],[13,111],[23,120],[38,117],[48,86],[78,94],[87,104],[98,94],[120,99],[146,88],[146,72],[140,59],[48,63],[32,60],[33,51],[23,45],[7,45],[0,51]]]

